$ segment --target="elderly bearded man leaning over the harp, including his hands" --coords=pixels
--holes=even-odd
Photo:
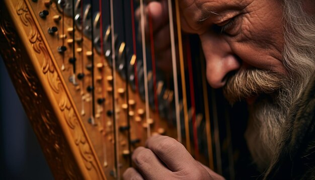
[[[231,104],[248,103],[245,137],[261,177],[314,178],[315,1],[179,2],[183,31],[200,37],[210,85],[222,87]],[[152,2],[147,11],[156,39],[167,36],[167,1]],[[156,48],[168,51],[168,45]],[[222,178],[165,136],[151,137],[132,158],[136,167],[125,179]]]

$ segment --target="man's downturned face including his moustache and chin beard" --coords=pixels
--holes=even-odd
[[[292,71],[298,70],[285,65],[298,59],[283,58],[288,57],[283,54],[283,6],[278,0],[184,0],[181,9],[182,28],[201,39],[210,85],[223,87],[230,103],[247,100],[250,105],[246,139],[263,170],[291,100],[300,95],[292,87],[303,86],[292,86]]]

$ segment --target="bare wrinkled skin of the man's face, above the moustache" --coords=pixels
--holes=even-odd
[[[184,31],[200,36],[212,87],[240,69],[285,73],[279,1],[184,0],[181,9]]]

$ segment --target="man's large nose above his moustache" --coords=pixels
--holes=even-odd
[[[226,83],[225,76],[238,70],[241,63],[222,35],[209,32],[200,35],[200,39],[206,58],[207,80],[211,87],[220,88]]]

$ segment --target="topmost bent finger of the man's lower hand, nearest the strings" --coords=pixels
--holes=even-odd
[[[151,136],[146,147],[152,150],[172,171],[185,170],[185,167],[199,165],[186,148],[168,136]]]

